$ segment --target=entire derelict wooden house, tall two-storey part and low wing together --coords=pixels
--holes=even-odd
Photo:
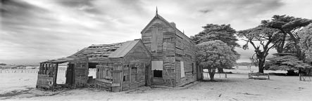
[[[37,88],[54,88],[58,64],[68,62],[68,86],[86,86],[122,91],[139,86],[183,86],[196,81],[195,43],[156,11],[141,32],[142,39],[92,45],[67,58],[40,63]],[[89,77],[96,68],[96,79]]]

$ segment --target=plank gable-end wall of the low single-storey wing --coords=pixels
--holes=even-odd
[[[146,50],[142,41],[130,50],[123,58],[123,90],[137,88],[139,86],[150,85],[149,74],[151,55]],[[146,78],[147,77],[147,78]]]

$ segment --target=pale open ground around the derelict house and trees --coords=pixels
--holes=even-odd
[[[18,82],[12,78],[0,83],[0,100],[312,100],[312,81],[299,81],[298,76],[270,76],[270,80],[255,80],[248,79],[244,71],[236,69],[236,72],[227,74],[227,78],[224,74],[216,74],[217,82],[201,81],[187,88],[141,87],[120,93],[92,88],[42,91],[34,88],[37,75],[23,74],[23,77],[14,77],[20,79]],[[1,79],[6,76],[13,74],[0,74]],[[6,83],[18,85],[8,87],[10,85]]]

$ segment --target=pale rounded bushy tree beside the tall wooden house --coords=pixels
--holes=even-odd
[[[196,52],[197,61],[201,67],[208,69],[211,81],[214,81],[217,68],[223,68],[238,60],[232,48],[220,40],[199,43],[196,47],[199,49]]]

